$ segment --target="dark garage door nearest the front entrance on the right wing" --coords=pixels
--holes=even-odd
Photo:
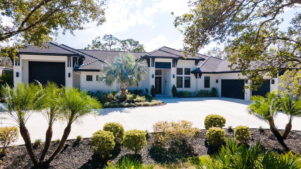
[[[244,99],[243,79],[222,79],[222,97]]]

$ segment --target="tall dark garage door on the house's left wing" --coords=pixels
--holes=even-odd
[[[29,83],[35,80],[46,84],[48,80],[57,85],[65,85],[64,62],[28,62]]]

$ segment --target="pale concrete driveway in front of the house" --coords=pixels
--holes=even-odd
[[[209,114],[219,114],[226,118],[226,126],[235,127],[237,125],[247,125],[250,128],[269,128],[268,124],[258,120],[246,112],[249,101],[223,98],[223,97],[204,97],[204,98],[167,98],[161,99],[167,103],[164,106],[136,107],[136,108],[111,108],[102,109],[96,117],[85,117],[81,121],[74,123],[68,139],[73,139],[77,135],[91,137],[92,133],[102,129],[107,122],[119,122],[125,130],[139,129],[152,131],[152,125],[157,121],[163,120],[188,120],[194,126],[204,129],[204,119]],[[279,114],[275,124],[279,129],[283,129],[287,123],[287,116]],[[11,121],[5,121],[11,123]],[[5,123],[4,122],[4,123]],[[8,124],[2,124],[8,125]],[[301,118],[293,121],[293,130],[301,130]],[[57,121],[53,126],[53,140],[61,138],[66,124]],[[45,140],[47,122],[42,115],[33,114],[26,123],[30,137],[33,140]],[[16,145],[23,144],[23,139],[19,138]]]

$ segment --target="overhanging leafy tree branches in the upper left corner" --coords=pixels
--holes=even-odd
[[[0,1],[0,55],[15,57],[17,48],[42,47],[59,31],[73,34],[85,23],[105,22],[102,0],[12,0]],[[5,22],[9,20],[9,22]]]

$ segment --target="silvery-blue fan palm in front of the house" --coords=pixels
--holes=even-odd
[[[107,66],[101,71],[101,76],[105,78],[107,86],[120,83],[121,101],[126,100],[126,87],[140,86],[141,81],[147,75],[144,60],[135,61],[134,54],[131,52],[120,53],[113,63],[106,62]]]

